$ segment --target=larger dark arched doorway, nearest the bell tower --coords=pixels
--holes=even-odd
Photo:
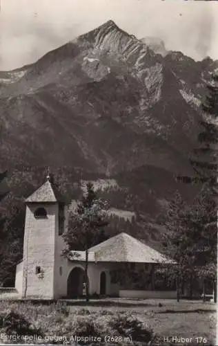
[[[68,298],[79,298],[83,295],[83,283],[85,280],[85,271],[79,266],[70,271],[68,276]]]

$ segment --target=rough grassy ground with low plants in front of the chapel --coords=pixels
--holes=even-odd
[[[183,300],[178,303],[174,300],[117,299],[88,304],[82,301],[48,304],[2,300],[0,336],[2,333],[23,333],[29,336],[26,343],[67,342],[72,345],[75,341],[72,336],[75,335],[101,340],[92,340],[92,343],[86,339],[86,343],[79,341],[81,345],[103,345],[106,335],[114,336],[112,340],[107,340],[106,345],[127,345],[130,339],[132,345],[170,345],[171,338],[177,337],[188,338],[189,342],[182,343],[180,339],[173,345],[215,345],[216,315],[213,303]],[[33,341],[30,340],[31,335],[35,336]],[[168,338],[166,343],[164,338]],[[0,339],[0,343],[2,341]],[[21,343],[16,338],[9,341]]]

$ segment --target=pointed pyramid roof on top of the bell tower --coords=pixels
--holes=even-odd
[[[41,202],[65,202],[65,199],[57,190],[57,187],[50,181],[50,176],[47,176],[46,183],[34,191],[27,199],[26,203],[41,203]]]

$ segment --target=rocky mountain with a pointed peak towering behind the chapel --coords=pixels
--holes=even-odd
[[[69,198],[66,186],[79,179],[117,179],[111,197],[133,195],[117,208],[137,209],[147,222],[175,190],[196,194],[175,175],[192,172],[188,154],[217,62],[162,56],[155,44],[108,21],[34,64],[0,72],[0,168],[11,172],[14,194],[36,188],[47,166]]]

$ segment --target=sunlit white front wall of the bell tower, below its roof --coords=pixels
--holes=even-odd
[[[46,208],[46,219],[35,219],[36,208]],[[26,286],[26,263],[27,296],[53,298],[54,282],[54,230],[57,204],[37,203],[26,207],[26,229],[23,247],[23,293]],[[36,274],[36,266],[43,270],[43,278]]]

